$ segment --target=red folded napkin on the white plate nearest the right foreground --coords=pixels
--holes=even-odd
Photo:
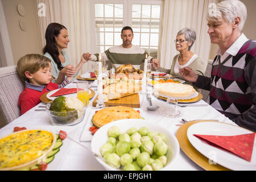
[[[251,161],[255,133],[234,136],[194,134],[194,136],[213,147],[232,152],[249,162]]]

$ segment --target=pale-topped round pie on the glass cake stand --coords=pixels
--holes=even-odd
[[[172,82],[154,85],[154,89],[159,95],[178,97],[179,99],[188,99],[189,97],[193,97],[196,93],[196,90],[191,85]]]

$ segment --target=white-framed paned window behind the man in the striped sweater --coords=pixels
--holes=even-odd
[[[92,1],[92,47],[95,52],[122,44],[121,30],[130,26],[134,31],[133,44],[146,49],[151,56],[157,57],[163,1],[115,0]]]

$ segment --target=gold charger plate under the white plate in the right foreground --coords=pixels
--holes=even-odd
[[[197,120],[197,121],[191,121],[191,122],[185,123],[184,125],[181,125],[176,133],[176,138],[179,141],[180,148],[191,160],[193,160],[193,162],[195,162],[197,165],[199,165],[201,168],[204,168],[207,171],[230,171],[230,169],[220,166],[220,164],[209,164],[209,159],[205,157],[203,154],[201,154],[199,151],[197,151],[196,148],[193,147],[188,140],[187,130],[189,126],[195,123],[209,122],[209,121],[217,122],[217,121],[211,121],[211,120],[207,120],[207,121]]]

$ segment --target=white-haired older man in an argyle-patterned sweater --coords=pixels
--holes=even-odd
[[[219,47],[211,77],[196,75],[188,67],[180,73],[195,86],[210,91],[211,106],[237,125],[256,131],[256,42],[241,33],[246,16],[241,1],[218,3],[216,11],[207,16],[210,41]]]

